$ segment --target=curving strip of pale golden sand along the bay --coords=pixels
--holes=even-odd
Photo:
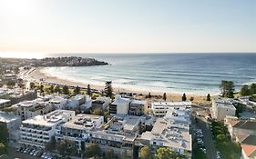
[[[54,83],[54,84],[66,84],[69,86],[80,86],[80,87],[87,87],[86,83],[78,83],[75,81],[69,81],[65,79],[59,79],[54,76],[49,76],[44,73],[42,73],[40,70],[42,68],[37,67],[33,71],[27,72],[26,75],[24,75],[26,80],[29,81],[34,81],[36,83],[41,83],[41,82],[46,82],[46,83]],[[43,79],[43,81],[40,81],[40,79]],[[99,91],[103,90],[104,87],[100,85],[95,85],[95,84],[90,84],[90,87],[92,89],[97,89]],[[145,95],[148,94],[148,92],[143,91],[143,90],[135,90],[135,89],[124,89],[124,88],[113,88],[115,93],[118,92],[132,92],[136,94],[143,94],[143,95],[138,95],[138,98],[144,99]],[[162,95],[163,92],[150,92],[150,94],[153,96],[151,100],[153,101],[160,101],[162,98],[159,95]],[[193,104],[210,104],[209,102],[206,101],[206,95],[201,95],[201,94],[186,94],[187,99],[189,100],[190,97],[192,96],[194,98]],[[177,94],[177,93],[167,93],[167,101],[180,101],[181,100],[182,94]]]

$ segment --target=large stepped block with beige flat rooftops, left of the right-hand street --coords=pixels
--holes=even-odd
[[[136,145],[149,145],[152,152],[169,147],[178,154],[191,157],[192,140],[189,134],[190,107],[170,107],[163,118],[158,118],[149,132],[141,134]]]

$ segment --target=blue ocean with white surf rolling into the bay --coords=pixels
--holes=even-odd
[[[221,80],[256,82],[256,54],[70,54],[92,57],[109,65],[46,67],[43,72],[61,79],[148,92],[219,94]],[[50,56],[69,56],[55,54]]]

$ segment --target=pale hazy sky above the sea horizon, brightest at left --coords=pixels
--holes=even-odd
[[[0,52],[256,52],[256,1],[0,0]]]

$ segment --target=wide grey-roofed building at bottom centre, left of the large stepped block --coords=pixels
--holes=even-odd
[[[135,139],[144,128],[144,117],[126,115],[114,118],[105,129],[91,130],[88,139],[90,143],[97,143],[103,151],[113,150],[115,154],[132,157]]]

